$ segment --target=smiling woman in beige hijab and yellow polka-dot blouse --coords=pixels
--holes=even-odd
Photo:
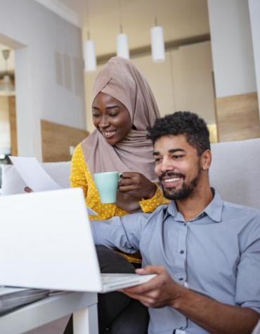
[[[159,116],[150,86],[134,64],[111,58],[93,85],[96,130],[77,146],[72,157],[71,186],[81,187],[86,204],[98,213],[90,219],[109,219],[138,210],[152,212],[167,203],[157,186],[152,143],[146,138],[146,128]],[[123,173],[117,203],[101,204],[93,173],[111,171]],[[134,267],[116,252],[102,247],[97,252],[102,272],[134,272]],[[135,265],[141,263],[138,254],[123,256]],[[129,312],[122,312],[126,307]],[[134,323],[140,327],[142,321],[143,333],[147,332],[146,309],[122,293],[99,295],[98,318],[100,333],[112,322],[111,333],[136,333]]]

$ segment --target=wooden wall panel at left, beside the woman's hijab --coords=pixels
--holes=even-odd
[[[41,147],[43,162],[71,160],[70,146],[77,146],[89,132],[41,120]]]

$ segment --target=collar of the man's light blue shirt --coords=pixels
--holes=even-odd
[[[212,188],[212,192],[214,193],[213,200],[209,203],[209,205],[207,205],[207,207],[204,208],[202,212],[200,212],[200,214],[198,214],[197,217],[201,217],[202,214],[207,214],[209,218],[219,223],[221,221],[221,214],[223,210],[223,200],[214,188]],[[167,208],[167,214],[171,214],[171,216],[173,216],[176,220],[183,220],[182,214],[178,212],[174,200],[169,203]]]

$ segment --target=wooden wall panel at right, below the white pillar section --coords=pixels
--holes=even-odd
[[[259,105],[256,93],[216,98],[219,141],[259,138]]]

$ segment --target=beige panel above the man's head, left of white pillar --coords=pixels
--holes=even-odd
[[[171,52],[174,110],[199,114],[207,124],[216,122],[210,42],[183,46]]]

